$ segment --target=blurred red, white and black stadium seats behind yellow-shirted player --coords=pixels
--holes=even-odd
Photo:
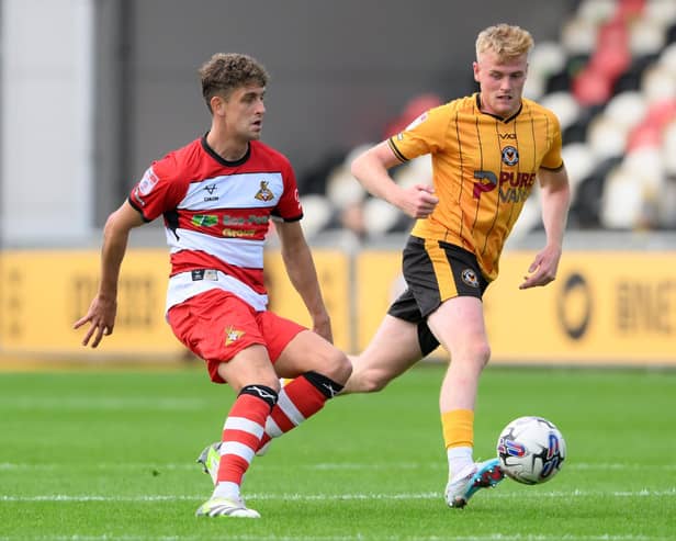
[[[556,40],[537,43],[525,97],[561,122],[573,189],[570,228],[676,229],[676,1],[578,2]],[[435,93],[412,98],[381,138],[443,101]],[[351,177],[349,164],[364,148],[329,157],[301,179],[313,235],[337,228],[364,239],[410,227]],[[401,166],[394,178],[402,185],[429,182],[429,157]],[[539,228],[536,192],[515,234]]]

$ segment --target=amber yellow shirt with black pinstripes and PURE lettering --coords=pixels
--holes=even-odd
[[[404,162],[431,155],[439,204],[412,235],[475,253],[487,280],[497,277],[505,240],[538,170],[563,166],[559,120],[528,99],[503,120],[481,111],[478,93],[460,98],[424,113],[387,143]]]

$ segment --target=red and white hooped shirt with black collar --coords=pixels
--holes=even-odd
[[[227,161],[206,137],[155,161],[128,199],[151,222],[164,215],[171,252],[167,309],[221,288],[263,311],[263,244],[271,216],[303,217],[293,168],[279,151],[249,143]]]

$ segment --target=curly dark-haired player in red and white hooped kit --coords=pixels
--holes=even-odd
[[[204,359],[212,381],[238,394],[217,446],[215,489],[198,515],[259,517],[240,485],[260,448],[267,419],[278,433],[316,414],[351,372],[331,345],[330,320],[300,219],[293,169],[259,140],[266,113],[264,68],[240,54],[216,54],[200,69],[212,113],[201,138],[155,161],[105,224],[102,274],[82,343],[113,331],[120,267],[131,229],[162,216],[170,248],[167,319]],[[275,219],[289,277],[313,329],[268,311],[263,243]],[[293,377],[280,394],[280,377]],[[293,406],[293,407],[291,407]]]

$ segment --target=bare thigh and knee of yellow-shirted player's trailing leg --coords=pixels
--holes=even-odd
[[[385,315],[367,348],[350,356],[353,377],[367,374],[383,386],[418,362],[422,353],[418,340],[418,325]]]

